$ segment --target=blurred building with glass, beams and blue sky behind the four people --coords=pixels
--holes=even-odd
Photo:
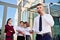
[[[0,39],[5,40],[4,29],[6,20],[12,18],[14,29],[19,25],[19,21],[28,21],[30,27],[36,16],[36,5],[44,3],[46,13],[54,18],[54,26],[52,28],[52,40],[60,40],[60,0],[0,0]],[[35,40],[35,34],[32,40]],[[14,35],[14,40],[17,36]]]

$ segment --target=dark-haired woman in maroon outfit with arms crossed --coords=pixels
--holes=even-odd
[[[15,33],[14,28],[12,26],[12,19],[9,18],[5,25],[5,33],[6,33],[6,40],[13,40],[13,34]]]

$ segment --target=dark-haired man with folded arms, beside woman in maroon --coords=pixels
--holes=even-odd
[[[25,37],[24,37],[24,22],[23,21],[20,21],[20,26],[18,26],[16,28],[16,31],[17,31],[17,40],[25,40]]]

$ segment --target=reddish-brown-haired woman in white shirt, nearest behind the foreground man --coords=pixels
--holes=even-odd
[[[31,28],[28,22],[24,22],[25,40],[31,40]]]

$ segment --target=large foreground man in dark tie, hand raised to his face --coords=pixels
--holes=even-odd
[[[33,32],[36,33],[36,40],[51,40],[51,27],[54,25],[50,14],[45,13],[43,4],[37,4],[38,16],[34,19]]]

